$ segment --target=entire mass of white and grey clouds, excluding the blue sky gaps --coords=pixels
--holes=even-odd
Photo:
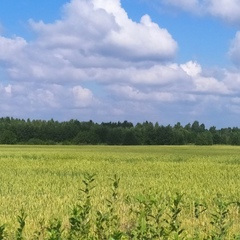
[[[164,3],[230,21],[239,17],[230,14],[238,1],[225,10],[224,0],[218,6],[214,0]],[[29,25],[31,41],[0,36],[2,114],[172,123],[240,111],[239,32],[229,49],[236,68],[207,71],[196,61],[176,63],[171,33],[148,15],[133,21],[120,0],[72,0],[61,19]]]

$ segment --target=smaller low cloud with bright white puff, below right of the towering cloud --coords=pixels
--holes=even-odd
[[[127,70],[125,70],[127,71]],[[131,73],[132,71],[132,73]],[[148,69],[128,70],[128,81],[112,84],[108,91],[113,96],[140,102],[158,103],[197,103],[213,96],[234,94],[228,84],[226,72],[223,80],[204,74],[197,62],[154,66]],[[123,75],[122,75],[123,76]],[[209,98],[211,96],[211,98]]]

